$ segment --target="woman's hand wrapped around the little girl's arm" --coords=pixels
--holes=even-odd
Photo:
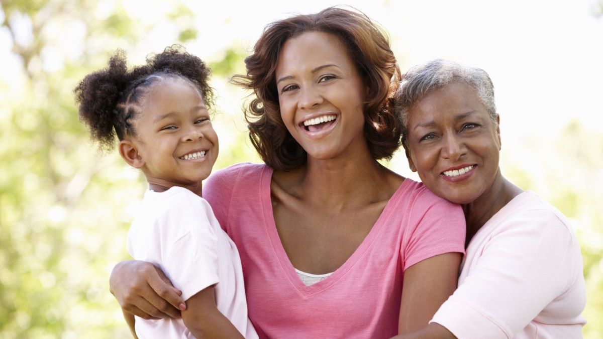
[[[182,292],[148,262],[119,262],[113,267],[109,286],[119,306],[140,318],[180,318],[180,310],[186,309]]]

